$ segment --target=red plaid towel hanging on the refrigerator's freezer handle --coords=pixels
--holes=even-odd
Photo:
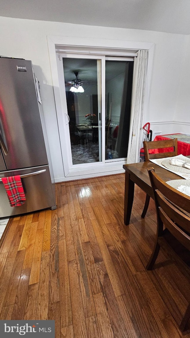
[[[20,175],[2,177],[1,179],[7,192],[10,206],[18,207],[24,204],[26,197]]]

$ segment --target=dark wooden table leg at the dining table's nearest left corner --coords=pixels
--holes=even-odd
[[[135,184],[130,179],[129,173],[125,172],[125,202],[124,202],[124,223],[128,225],[130,223],[131,210],[133,206]]]

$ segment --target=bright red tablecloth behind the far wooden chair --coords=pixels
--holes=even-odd
[[[171,138],[174,138],[174,135],[178,138],[184,138],[186,139],[186,142],[178,141],[178,155],[182,154],[184,156],[190,155],[190,136],[187,134],[168,134],[168,135],[158,135],[155,137],[154,141],[162,141],[162,140],[168,140]],[[173,148],[164,148],[164,149],[152,149],[151,153],[156,154],[156,153],[161,153],[161,152],[168,152],[168,151],[173,151]],[[150,152],[150,151],[149,151]]]

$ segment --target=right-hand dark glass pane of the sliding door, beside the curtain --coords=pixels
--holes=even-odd
[[[106,58],[106,160],[127,158],[133,64],[133,61],[127,59]]]

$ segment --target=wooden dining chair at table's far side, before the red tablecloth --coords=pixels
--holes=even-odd
[[[143,147],[144,147],[144,157],[145,161],[153,160],[153,159],[162,159],[165,157],[172,157],[178,155],[178,139],[168,139],[168,140],[162,140],[162,141],[143,141]],[[167,151],[167,148],[173,148],[173,151]],[[162,152],[158,154],[149,154],[149,149],[163,149]],[[165,152],[164,152],[165,150]],[[169,150],[169,149],[168,149]],[[141,217],[144,218],[146,215],[146,212],[148,210],[150,202],[150,196],[146,195],[145,203],[144,203],[144,209],[142,211]]]

